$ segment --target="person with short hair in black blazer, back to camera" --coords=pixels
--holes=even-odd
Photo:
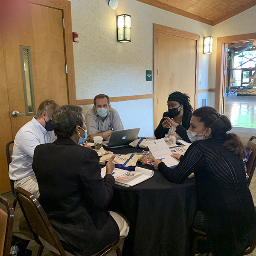
[[[119,238],[119,226],[106,209],[115,186],[115,156],[102,178],[96,151],[78,145],[87,137],[81,107],[59,107],[52,125],[57,140],[38,145],[34,153],[39,201],[64,249],[77,256],[93,255]]]

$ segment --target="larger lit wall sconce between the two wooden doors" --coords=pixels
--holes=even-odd
[[[131,15],[117,16],[117,42],[131,42]]]

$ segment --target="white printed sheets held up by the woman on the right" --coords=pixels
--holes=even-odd
[[[163,138],[160,140],[148,140],[146,143],[154,158],[164,158],[163,162],[166,166],[176,166],[179,163],[178,160],[171,157],[172,151],[169,149],[169,146]]]

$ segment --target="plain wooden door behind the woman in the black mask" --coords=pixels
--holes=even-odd
[[[195,108],[196,47],[196,39],[170,35],[168,28],[163,32],[154,30],[154,128],[168,109],[170,93],[187,93]]]

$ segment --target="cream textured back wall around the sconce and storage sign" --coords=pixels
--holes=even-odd
[[[209,58],[204,55],[203,38],[212,26],[191,20],[135,0],[119,0],[116,10],[108,0],[71,0],[77,99],[91,99],[98,93],[110,97],[150,94],[153,81],[145,81],[145,70],[153,70],[153,23],[200,35],[199,69],[202,85],[208,88]],[[116,15],[132,17],[132,42],[116,41]],[[167,96],[166,96],[167,97]],[[125,128],[141,127],[139,136],[153,136],[153,99],[111,103]],[[91,106],[83,106],[86,112]]]

